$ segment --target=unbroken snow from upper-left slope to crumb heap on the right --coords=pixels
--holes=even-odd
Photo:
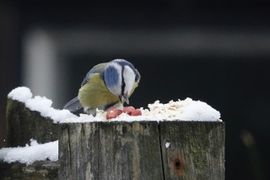
[[[97,110],[96,116],[80,114],[76,116],[68,110],[59,110],[52,107],[52,101],[46,97],[35,96],[27,87],[18,87],[8,94],[9,98],[25,103],[26,107],[38,111],[44,117],[51,118],[54,123],[85,123],[85,122],[114,122],[114,121],[221,121],[220,112],[205,102],[186,98],[185,100],[161,103],[155,101],[148,108],[140,108],[141,116],[129,116],[122,113],[120,116],[107,120],[106,112]]]

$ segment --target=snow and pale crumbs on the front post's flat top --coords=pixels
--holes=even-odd
[[[168,103],[160,103],[159,101],[148,105],[148,109],[140,108],[141,116],[129,116],[122,113],[116,118],[110,119],[114,121],[221,121],[220,112],[212,108],[205,102],[194,101],[191,98],[185,100],[170,101]],[[67,118],[61,123],[74,122],[98,122],[108,121],[105,118],[106,112],[97,111],[97,115],[80,114],[76,118]]]

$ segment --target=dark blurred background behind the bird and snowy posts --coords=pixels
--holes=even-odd
[[[1,1],[0,145],[6,95],[28,86],[61,108],[114,58],[142,75],[131,103],[191,97],[226,122],[226,179],[269,179],[267,0]]]

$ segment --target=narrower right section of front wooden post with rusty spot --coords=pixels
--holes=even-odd
[[[165,179],[224,180],[222,122],[161,122]]]

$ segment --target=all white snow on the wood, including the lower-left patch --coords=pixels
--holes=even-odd
[[[220,112],[212,108],[205,102],[186,98],[185,100],[170,101],[161,103],[155,101],[148,105],[148,108],[140,108],[141,116],[129,116],[122,113],[114,119],[107,120],[106,112],[97,110],[96,116],[80,114],[76,116],[68,110],[59,110],[52,107],[53,102],[46,97],[34,96],[27,87],[13,89],[8,97],[20,101],[32,111],[38,111],[44,117],[51,118],[54,123],[85,123],[85,122],[115,122],[115,121],[221,121]],[[165,143],[165,147],[170,147],[170,142]],[[58,160],[58,141],[39,144],[36,140],[31,140],[30,145],[16,148],[0,149],[0,160],[12,163],[20,162],[27,165],[34,161]]]

